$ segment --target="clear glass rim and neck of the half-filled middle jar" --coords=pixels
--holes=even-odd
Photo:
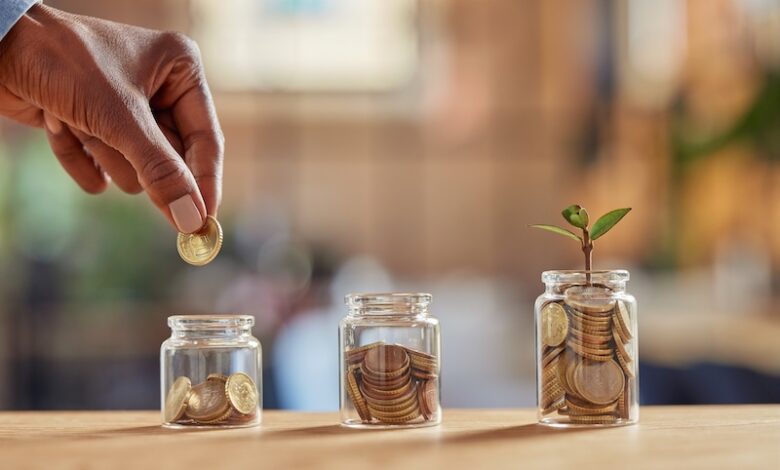
[[[430,294],[349,294],[345,298],[350,316],[420,317],[427,316]]]

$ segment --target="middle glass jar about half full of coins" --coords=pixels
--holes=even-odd
[[[350,294],[339,327],[340,408],[346,426],[441,423],[439,321],[430,294]]]

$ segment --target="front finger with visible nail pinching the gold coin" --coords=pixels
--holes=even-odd
[[[130,162],[149,198],[179,232],[197,231],[203,227],[206,205],[195,177],[160,130],[148,104],[130,111],[118,120],[119,125],[109,127],[103,140]]]

